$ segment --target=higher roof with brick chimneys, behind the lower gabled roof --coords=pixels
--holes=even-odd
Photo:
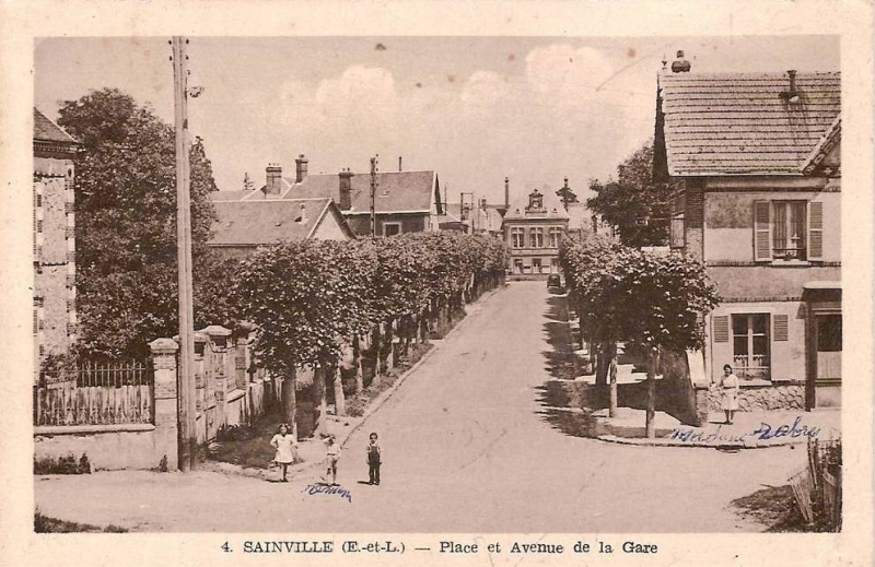
[[[434,172],[387,172],[376,174],[374,206],[378,213],[399,211],[428,212],[434,202]],[[355,174],[350,179],[352,208],[345,213],[371,211],[371,174]],[[330,197],[340,202],[340,176],[337,174],[307,175],[300,184],[283,178],[282,199],[314,199]],[[261,191],[256,191],[259,193]],[[246,200],[262,199],[253,194]]]

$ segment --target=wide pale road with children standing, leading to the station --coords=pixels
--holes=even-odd
[[[537,387],[563,329],[557,303],[542,282],[518,282],[476,306],[350,437],[338,482],[351,503],[310,495],[305,481],[119,472],[38,480],[37,504],[63,519],[167,531],[762,530],[727,504],[785,484],[803,451],[617,446],[546,420]],[[384,451],[381,486],[359,483],[370,430]]]

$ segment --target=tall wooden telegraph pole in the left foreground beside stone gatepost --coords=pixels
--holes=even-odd
[[[196,468],[195,336],[191,304],[191,194],[188,163],[188,39],[174,36],[173,95],[176,122],[176,258],[179,281],[178,457],[179,469]]]

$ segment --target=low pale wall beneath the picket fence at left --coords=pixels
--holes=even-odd
[[[176,439],[161,437],[150,424],[40,426],[34,430],[34,459],[73,454],[79,460],[84,453],[92,470],[117,470],[158,469],[166,457],[173,465]]]

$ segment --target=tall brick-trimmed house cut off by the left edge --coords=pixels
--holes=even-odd
[[[73,158],[79,142],[34,108],[33,144],[33,334],[39,365],[77,340]]]

